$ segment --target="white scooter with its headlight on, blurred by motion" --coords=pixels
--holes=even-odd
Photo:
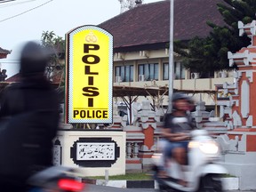
[[[152,156],[154,178],[160,191],[196,191],[221,192],[223,186],[221,176],[228,171],[220,164],[220,148],[218,143],[205,130],[190,132],[188,142],[188,163],[180,165],[171,158],[167,167],[164,167],[166,176],[160,174],[163,170],[164,156],[162,148]],[[165,141],[168,142],[168,141]],[[160,145],[161,146],[161,145]],[[182,166],[182,170],[180,167]],[[184,177],[185,176],[185,177]],[[181,185],[184,180],[187,185]]]

